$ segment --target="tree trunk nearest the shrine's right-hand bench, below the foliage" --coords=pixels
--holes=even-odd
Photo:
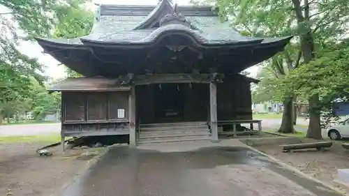
[[[279,133],[295,133],[293,129],[293,98],[285,98],[283,101],[283,119],[278,130]]]

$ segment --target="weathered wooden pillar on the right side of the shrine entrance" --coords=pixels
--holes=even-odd
[[[211,141],[218,142],[217,127],[217,86],[216,83],[209,83],[209,120],[211,124]]]

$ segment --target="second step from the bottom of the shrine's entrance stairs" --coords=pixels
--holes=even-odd
[[[166,133],[140,133],[139,139],[160,138],[160,137],[188,137],[188,136],[210,136],[207,131],[189,131],[189,132],[166,132]]]

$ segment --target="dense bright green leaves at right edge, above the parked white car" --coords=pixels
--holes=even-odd
[[[309,98],[320,95],[320,107],[333,100],[349,98],[349,42],[329,43],[318,51],[315,61],[293,70],[281,82],[281,89]]]

